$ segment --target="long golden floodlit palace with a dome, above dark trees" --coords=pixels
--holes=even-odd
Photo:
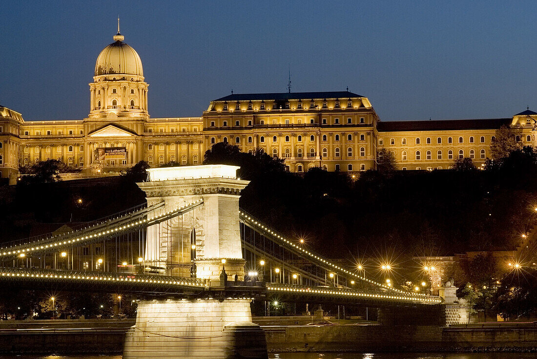
[[[292,172],[365,171],[384,150],[400,170],[449,168],[457,157],[480,165],[504,124],[520,129],[521,143],[536,145],[537,113],[529,109],[506,119],[388,122],[367,97],[349,91],[231,94],[211,101],[201,117],[151,118],[142,61],[119,32],[97,57],[89,87],[83,120],[24,121],[0,106],[2,177],[13,182],[19,165],[49,158],[87,174],[124,171],[140,160],[198,164],[218,142],[262,148],[285,158]],[[123,156],[100,156],[118,148]]]

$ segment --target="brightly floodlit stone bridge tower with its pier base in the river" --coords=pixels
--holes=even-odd
[[[224,266],[230,280],[244,279],[238,200],[248,181],[237,179],[238,168],[149,170],[149,181],[138,184],[149,205],[164,201],[169,211],[202,203],[168,225],[148,228],[143,257],[148,266],[188,276],[195,263],[193,273],[211,287],[220,285]],[[267,358],[264,333],[251,319],[247,298],[143,300],[126,334],[123,358]]]

